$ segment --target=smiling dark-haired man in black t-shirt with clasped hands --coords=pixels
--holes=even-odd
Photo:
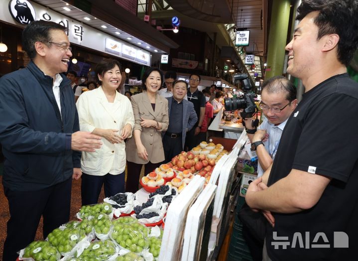
[[[358,84],[346,66],[358,47],[358,3],[303,0],[297,11],[287,72],[305,94],[246,202],[271,224],[263,260],[356,260]]]

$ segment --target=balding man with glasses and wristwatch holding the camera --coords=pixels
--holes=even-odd
[[[265,116],[264,121],[256,130],[252,119],[244,119],[251,149],[258,157],[258,177],[271,165],[287,119],[296,106],[296,87],[289,80],[276,76],[263,83],[259,107]]]

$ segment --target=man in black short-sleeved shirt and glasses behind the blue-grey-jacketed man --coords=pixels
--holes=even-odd
[[[205,96],[201,91],[198,90],[200,84],[200,75],[192,74],[189,77],[190,88],[188,88],[187,98],[189,102],[194,104],[194,109],[198,117],[198,122],[194,125],[193,129],[189,130],[186,135],[186,146],[188,150],[191,150],[193,147],[197,146],[201,141],[197,138],[197,135],[200,133],[204,117],[205,117]]]

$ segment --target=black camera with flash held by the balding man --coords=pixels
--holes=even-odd
[[[225,99],[225,110],[234,111],[238,109],[244,109],[240,113],[243,119],[252,118],[258,109],[254,101],[254,93],[251,92],[252,85],[250,80],[247,78],[245,73],[237,73],[233,75],[234,84],[237,84],[241,81],[242,90],[244,94],[242,96],[237,96],[236,98],[226,98]]]

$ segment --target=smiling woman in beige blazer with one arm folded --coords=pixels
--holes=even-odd
[[[163,82],[159,69],[148,68],[142,78],[143,93],[131,96],[134,114],[133,137],[125,145],[127,181],[125,190],[138,190],[142,165],[144,173],[153,171],[164,160],[161,132],[168,129],[168,100],[157,95]]]

